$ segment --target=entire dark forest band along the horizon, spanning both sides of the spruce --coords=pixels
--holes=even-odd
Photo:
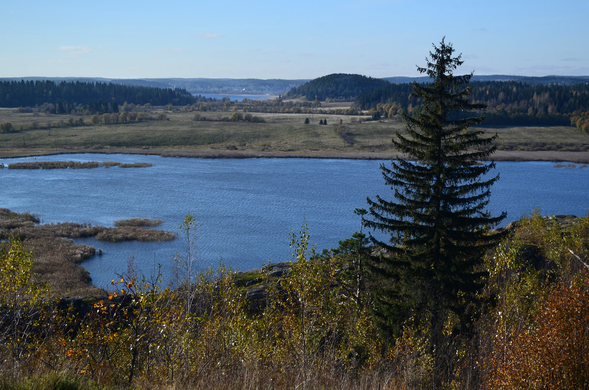
[[[522,81],[473,81],[472,103],[487,105],[484,125],[573,125],[589,133],[589,84],[527,84]],[[49,114],[113,114],[124,104],[173,105],[184,111],[240,110],[244,113],[359,115],[391,118],[419,113],[412,84],[393,84],[361,75],[332,74],[292,88],[284,98],[242,101],[193,96],[184,89],[123,85],[112,82],[1,81],[0,107]],[[293,101],[290,98],[305,97]],[[320,101],[352,100],[350,108],[321,108]],[[2,129],[2,132],[9,132]]]

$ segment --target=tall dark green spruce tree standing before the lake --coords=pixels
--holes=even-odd
[[[488,157],[497,135],[470,128],[483,118],[469,111],[485,108],[468,101],[472,73],[452,74],[463,62],[461,55],[452,57],[452,44],[442,39],[433,46],[427,66],[418,67],[433,81],[413,83],[412,95],[421,99],[418,115],[403,115],[406,134],[397,132],[392,141],[408,158],[380,166],[395,199],[368,198],[365,225],[390,233],[389,242],[370,234],[385,249],[374,269],[380,280],[374,312],[383,335],[398,336],[408,318],[425,320],[437,355],[449,318],[456,333],[468,326],[468,310],[482,287],[482,256],[499,238],[490,231],[506,214],[485,210],[499,178],[485,176],[495,167]]]

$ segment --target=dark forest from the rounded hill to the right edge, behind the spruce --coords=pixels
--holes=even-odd
[[[555,78],[547,78],[554,82]],[[570,80],[568,80],[570,81]],[[589,131],[589,84],[540,84],[540,81],[473,81],[472,103],[487,105],[485,125],[574,125]],[[333,74],[290,90],[286,97],[353,100],[353,108],[373,119],[418,114],[421,101],[409,82],[391,83],[361,75]],[[352,110],[353,110],[352,108]]]

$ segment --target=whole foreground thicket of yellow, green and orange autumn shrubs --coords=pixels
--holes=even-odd
[[[508,227],[485,256],[473,335],[448,336],[448,388],[589,386],[589,218],[538,213]],[[189,229],[184,232],[190,232]],[[371,251],[356,234],[321,255],[293,236],[282,277],[223,265],[173,283],[128,272],[91,310],[69,309],[33,283],[18,239],[0,252],[0,388],[426,388],[435,383],[425,323],[386,345],[370,315]],[[190,240],[188,240],[190,242]],[[374,252],[372,252],[374,253]],[[247,280],[247,282],[246,282]],[[257,292],[256,300],[251,298]],[[253,302],[256,302],[255,304]],[[32,379],[34,378],[34,379]],[[28,385],[27,385],[28,384]]]

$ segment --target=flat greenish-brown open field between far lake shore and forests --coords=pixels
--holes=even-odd
[[[332,105],[335,103],[331,103]],[[341,105],[342,103],[337,103]],[[325,107],[327,108],[326,104]],[[1,108],[0,123],[16,129],[0,133],[0,157],[57,153],[143,153],[194,157],[345,157],[389,158],[396,151],[391,138],[404,133],[398,119],[368,121],[368,116],[327,114],[252,113],[264,123],[229,121],[233,111],[186,112],[150,108],[148,114],[167,120],[134,123],[90,124],[90,116],[18,113]],[[195,114],[207,120],[194,120]],[[305,124],[305,118],[310,123]],[[70,127],[68,120],[85,125]],[[327,121],[320,125],[319,121]],[[71,123],[71,121],[70,121]],[[539,156],[567,153],[586,162],[589,135],[574,127],[489,127],[499,135],[497,159],[527,160],[529,151],[551,151]],[[504,151],[504,152],[503,152]],[[503,156],[503,157],[501,157]],[[562,160],[562,158],[540,157]],[[584,160],[585,159],[585,160]]]

